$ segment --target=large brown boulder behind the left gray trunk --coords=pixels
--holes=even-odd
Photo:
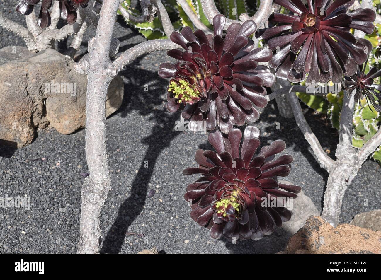
[[[36,54],[19,46],[2,48],[0,58],[2,143],[30,144],[36,128],[49,122],[63,134],[85,126],[87,77],[75,72],[72,59],[53,49]],[[123,80],[116,77],[107,94],[106,116],[120,107],[122,99]]]

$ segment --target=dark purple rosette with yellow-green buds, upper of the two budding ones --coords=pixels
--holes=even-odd
[[[231,24],[223,33],[226,18],[213,19],[214,35],[184,27],[170,38],[185,50],[174,49],[168,55],[178,59],[160,65],[159,76],[171,78],[167,90],[167,109],[182,110],[182,118],[205,121],[207,130],[216,126],[227,133],[233,125],[256,122],[259,113],[253,103],[267,105],[266,89],[275,83],[267,66],[272,58],[268,48],[256,48],[248,38],[256,30],[254,21]]]

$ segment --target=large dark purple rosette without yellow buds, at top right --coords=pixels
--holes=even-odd
[[[265,39],[274,57],[269,65],[282,80],[301,82],[341,82],[352,76],[357,64],[367,60],[371,43],[349,32],[351,28],[371,34],[376,14],[371,9],[347,13],[354,0],[274,0],[289,14],[270,16],[271,28],[259,29],[256,37]],[[276,25],[276,26],[274,26]],[[367,53],[366,53],[367,52]]]

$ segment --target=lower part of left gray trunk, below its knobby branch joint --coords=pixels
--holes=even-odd
[[[88,77],[86,100],[86,161],[90,176],[82,187],[78,253],[96,254],[101,247],[99,216],[110,189],[106,158],[106,95],[111,78]]]

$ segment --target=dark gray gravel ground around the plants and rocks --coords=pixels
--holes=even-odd
[[[25,19],[13,11],[18,1],[0,0],[7,16],[25,26]],[[9,14],[8,14],[9,12]],[[86,39],[94,33],[90,28]],[[0,48],[24,46],[14,34],[0,27]],[[115,36],[120,51],[145,40],[118,18]],[[59,43],[64,50],[67,41]],[[81,53],[86,51],[83,44]],[[170,61],[165,52],[136,59],[120,75],[125,81],[122,107],[107,119],[107,151],[112,190],[102,209],[102,253],[136,253],[156,247],[161,253],[276,253],[283,249],[282,230],[258,242],[231,244],[209,237],[189,217],[183,200],[187,184],[196,176],[182,176],[181,170],[194,166],[198,148],[210,148],[205,135],[174,131],[179,114],[165,110],[166,81],[157,75],[160,63]],[[143,90],[149,85],[149,91]],[[303,187],[321,210],[328,174],[320,169],[293,119],[278,116],[270,102],[257,123],[263,143],[283,139],[285,152],[293,155],[293,171],[286,178]],[[334,154],[337,133],[319,116],[306,112],[312,130],[324,149]],[[276,123],[281,129],[276,130]],[[38,131],[35,141],[19,150],[0,148],[0,196],[29,196],[32,206],[0,209],[0,253],[75,253],[80,219],[80,188],[88,172],[85,161],[85,130],[71,135],[56,130]],[[46,160],[41,160],[46,158]],[[60,161],[60,167],[56,162]],[[148,167],[145,167],[146,161]],[[368,160],[348,187],[343,200],[341,222],[349,222],[363,211],[380,208],[379,165]],[[150,190],[153,197],[147,198]],[[364,205],[364,200],[368,205]],[[125,232],[142,234],[126,236]]]

